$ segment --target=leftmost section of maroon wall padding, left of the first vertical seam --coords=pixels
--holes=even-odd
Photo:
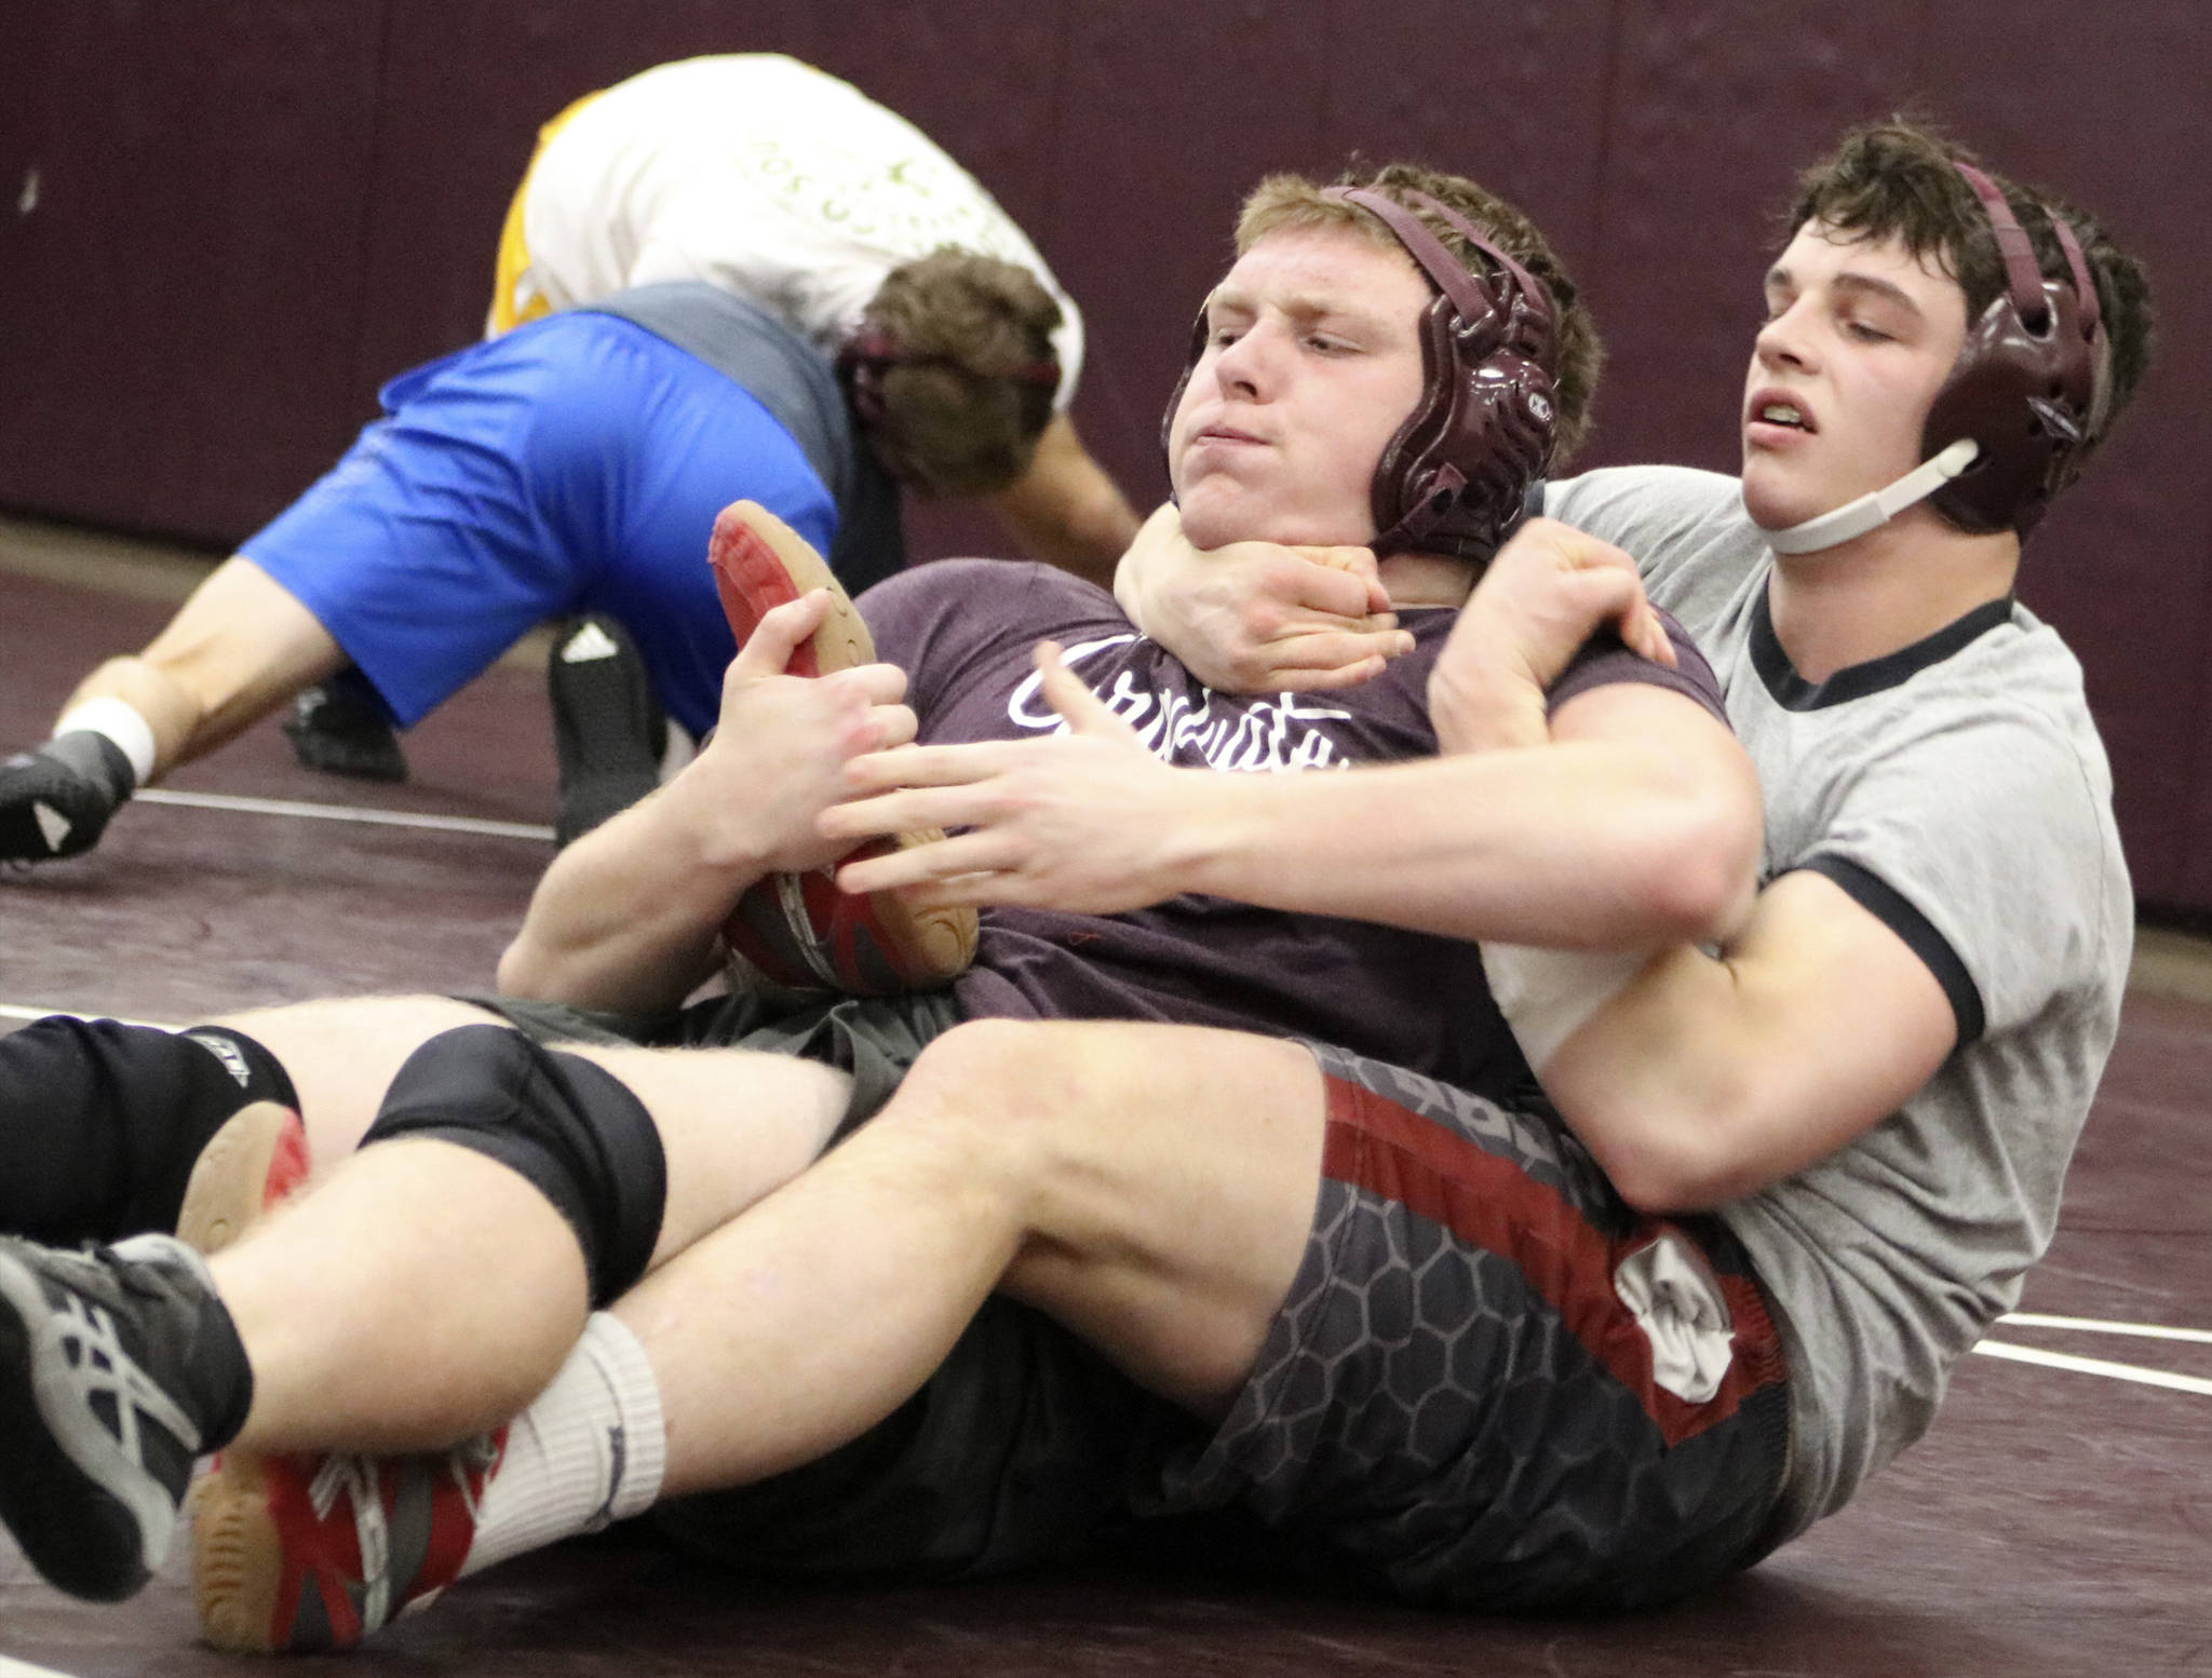
[[[0,502],[237,537],[363,409],[378,9],[9,13]]]

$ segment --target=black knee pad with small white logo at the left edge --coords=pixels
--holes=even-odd
[[[292,1079],[230,1026],[53,1015],[0,1037],[0,1231],[73,1245],[175,1229],[199,1150]]]

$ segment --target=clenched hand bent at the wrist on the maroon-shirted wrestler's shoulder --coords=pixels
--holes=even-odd
[[[1546,690],[1601,626],[1655,663],[1674,643],[1637,562],[1557,520],[1528,520],[1491,559],[1429,672],[1429,719],[1444,752],[1542,745]]]

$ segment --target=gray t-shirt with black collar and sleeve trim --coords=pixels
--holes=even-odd
[[[1898,1112],[1721,1209],[1790,1351],[1794,1534],[1927,1430],[2051,1245],[2135,935],[2112,776],[2081,668],[2017,601],[1809,683],[1774,637],[1774,557],[1734,478],[1593,471],[1546,511],[1637,555],[1719,672],[1765,787],[1765,878],[1825,873],[1958,1017]]]

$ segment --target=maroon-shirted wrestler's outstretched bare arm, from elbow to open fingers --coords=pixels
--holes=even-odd
[[[1566,701],[1553,741],[1340,774],[1168,769],[1062,665],[1057,738],[847,765],[827,840],[956,838],[849,862],[847,891],[1119,913],[1199,891],[1513,944],[1714,937],[1756,884],[1759,780],[1703,705],[1646,683]]]

